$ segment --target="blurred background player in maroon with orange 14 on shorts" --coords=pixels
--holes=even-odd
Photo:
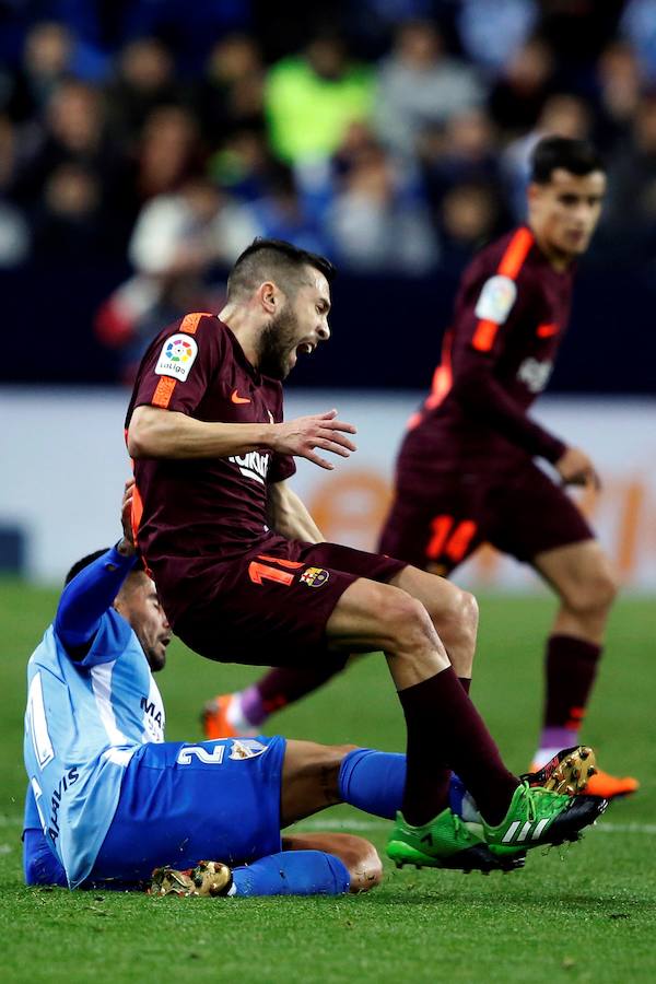
[[[536,148],[528,223],[491,243],[462,276],[432,391],[401,446],[380,550],[450,572],[483,542],[529,563],[560,599],[546,654],[547,694],[532,768],[577,741],[616,594],[610,561],[562,484],[598,485],[588,456],[530,420],[570,315],[576,258],[597,224],[606,177],[585,143]],[[443,639],[447,651],[448,641]],[[261,728],[269,713],[319,687],[326,667],[274,669],[206,708],[208,737]],[[631,777],[597,774],[590,790],[625,795]]]

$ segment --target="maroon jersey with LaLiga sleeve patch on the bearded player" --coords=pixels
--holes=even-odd
[[[250,365],[215,315],[189,314],[161,331],[143,356],[126,427],[142,405],[202,421],[278,423],[282,386]],[[266,449],[134,462],[138,543],[172,622],[192,599],[195,577],[266,537],[267,487],[294,471],[293,458]]]

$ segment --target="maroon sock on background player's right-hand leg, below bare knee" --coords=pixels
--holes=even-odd
[[[601,647],[573,635],[552,635],[547,645],[544,728],[577,731],[588,702]]]

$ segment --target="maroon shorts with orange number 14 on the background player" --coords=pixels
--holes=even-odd
[[[421,480],[420,480],[421,478]],[[520,561],[594,538],[570,496],[531,460],[511,470],[399,470],[379,549],[448,574],[488,542]]]

